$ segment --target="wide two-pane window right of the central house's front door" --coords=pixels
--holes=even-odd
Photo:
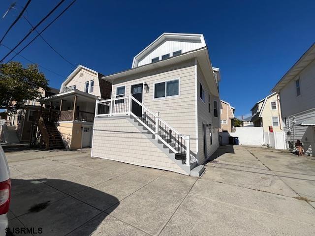
[[[179,80],[170,80],[154,85],[154,98],[179,95]]]

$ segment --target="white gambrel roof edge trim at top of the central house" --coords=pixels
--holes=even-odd
[[[146,53],[150,52],[152,49],[154,49],[155,47],[157,47],[160,43],[162,43],[163,41],[165,41],[166,39],[198,39],[201,41],[201,46],[205,47],[206,46],[206,42],[205,39],[203,37],[203,34],[193,34],[193,33],[162,33],[156,40],[154,40],[151,44],[149,44],[145,49],[143,49],[140,53],[138,53],[132,61],[132,66],[131,68],[135,68],[136,65],[139,62],[139,59],[141,59]]]

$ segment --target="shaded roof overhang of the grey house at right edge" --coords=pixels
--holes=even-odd
[[[284,74],[281,80],[272,89],[273,92],[279,92],[292,79],[294,79],[302,70],[305,69],[313,60],[315,60],[315,43],[302,55],[298,61]]]

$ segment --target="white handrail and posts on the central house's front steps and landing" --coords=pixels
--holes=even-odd
[[[119,112],[114,112],[114,108],[115,105],[117,103],[114,103],[117,100],[124,100],[124,106],[122,107],[122,109],[119,110]],[[135,103],[137,103],[138,105],[141,106],[142,111],[145,111],[145,116],[144,114],[142,114],[142,117],[139,118],[138,116],[136,116],[134,113],[132,113],[132,102],[134,101]],[[104,114],[98,114],[98,108],[99,105],[104,105],[104,106],[108,106],[108,111],[107,113]],[[118,105],[119,106],[119,105]],[[147,120],[147,112],[149,113],[149,121]],[[174,153],[180,153],[178,150],[176,150],[176,148],[180,148],[183,149],[182,147],[182,143],[179,142],[179,138],[183,139],[185,142],[185,151],[186,151],[186,165],[190,165],[190,138],[189,135],[183,135],[181,134],[179,131],[177,131],[175,128],[173,128],[171,125],[169,125],[167,122],[165,122],[164,120],[162,120],[161,118],[159,118],[159,112],[153,112],[150,109],[148,109],[147,107],[145,107],[141,102],[139,102],[136,98],[134,98],[132,96],[132,94],[129,94],[128,96],[124,96],[124,97],[117,97],[117,98],[113,98],[111,97],[111,99],[107,99],[107,100],[96,100],[95,103],[95,117],[112,117],[112,116],[117,116],[117,115],[129,115],[134,117],[138,122],[140,122],[143,126],[145,126],[150,132],[152,132],[156,139],[159,139],[164,145],[166,145],[168,148],[170,148]],[[153,122],[154,120],[154,122]],[[161,130],[161,127],[159,126],[159,123],[163,123],[163,129]],[[171,146],[168,142],[166,142],[163,137],[161,137],[160,133],[166,133],[165,129],[167,127],[167,131],[170,131],[171,135],[169,135],[169,138],[171,139],[173,136],[173,133],[175,133],[175,136],[177,135],[178,140],[176,140],[175,142],[175,146]],[[174,143],[174,141],[173,141]],[[177,143],[177,144],[176,144]],[[173,144],[174,145],[174,144]],[[178,147],[176,147],[176,145],[178,145]]]

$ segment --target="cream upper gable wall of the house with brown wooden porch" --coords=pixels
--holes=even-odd
[[[81,73],[83,74],[83,76],[80,77]],[[91,80],[94,80],[94,89],[93,92],[91,92],[90,94],[100,97],[101,95],[97,74],[83,68],[76,75],[73,76],[71,81],[64,84],[63,86],[69,87],[72,85],[76,85],[76,89],[84,92],[85,82]]]

